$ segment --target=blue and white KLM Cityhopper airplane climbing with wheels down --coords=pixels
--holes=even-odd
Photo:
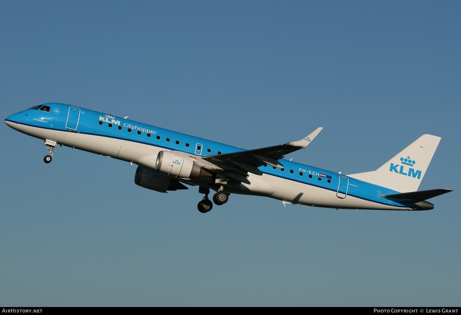
[[[294,142],[245,150],[86,108],[47,103],[19,111],[6,125],[44,140],[50,163],[56,146],[137,164],[135,183],[157,192],[198,186],[201,213],[231,193],[270,197],[283,205],[333,209],[431,210],[426,199],[451,192],[417,191],[440,137],[423,134],[374,171],[343,175],[284,159],[305,149],[322,128]],[[186,184],[187,186],[185,186]],[[210,190],[215,191],[213,203]]]

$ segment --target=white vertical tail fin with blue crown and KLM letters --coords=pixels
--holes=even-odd
[[[379,169],[348,176],[400,192],[414,192],[420,186],[440,139],[423,134]]]

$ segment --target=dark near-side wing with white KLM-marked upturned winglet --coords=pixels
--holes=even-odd
[[[202,158],[211,162],[232,163],[236,167],[254,174],[259,174],[260,171],[256,168],[264,164],[282,169],[284,165],[278,162],[278,160],[288,153],[295,152],[299,149],[305,149],[322,129],[322,127],[317,128],[304,139],[284,143],[279,146],[268,146],[266,148],[254,150],[209,155]]]

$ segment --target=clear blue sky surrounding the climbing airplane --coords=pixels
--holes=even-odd
[[[4,117],[62,102],[295,161],[377,169],[442,140],[430,211],[331,210],[134,184],[130,163],[5,124],[0,304],[459,306],[458,1],[3,1]]]

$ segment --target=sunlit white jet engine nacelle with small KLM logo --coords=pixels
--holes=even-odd
[[[200,166],[190,157],[171,151],[160,151],[155,162],[155,169],[161,173],[181,178],[199,177]]]

